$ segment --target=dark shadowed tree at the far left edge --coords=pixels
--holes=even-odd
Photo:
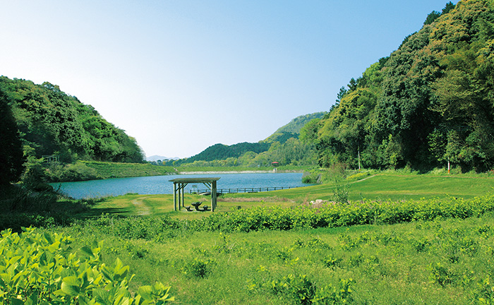
[[[8,98],[0,90],[0,186],[18,181],[25,162],[16,120]]]

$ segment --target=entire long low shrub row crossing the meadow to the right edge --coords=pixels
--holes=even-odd
[[[169,216],[117,218],[102,215],[79,222],[80,226],[104,227],[122,238],[165,240],[183,231],[251,232],[351,225],[396,224],[440,217],[464,219],[494,211],[494,195],[473,199],[450,198],[420,201],[361,201],[327,203],[318,208],[248,208],[229,213],[212,213],[200,220],[174,220]]]

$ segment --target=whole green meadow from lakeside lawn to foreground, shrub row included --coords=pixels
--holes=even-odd
[[[38,231],[70,236],[76,255],[92,253],[112,272],[121,260],[135,274],[128,295],[169,287],[150,304],[493,304],[493,186],[491,177],[368,173],[223,194],[215,213],[174,211],[172,195],[127,194]],[[333,202],[342,189],[350,201]],[[194,201],[210,205],[185,195]],[[72,279],[61,277],[66,292],[57,293],[75,293]]]

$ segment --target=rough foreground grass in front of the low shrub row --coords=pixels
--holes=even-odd
[[[164,282],[174,304],[312,304],[300,296],[315,293],[335,298],[320,304],[483,304],[478,299],[494,288],[493,215],[298,231],[171,230],[159,241],[93,225],[61,231],[76,249],[104,239],[105,260],[119,257],[135,273],[131,289]],[[332,294],[340,280],[353,283],[353,301]]]

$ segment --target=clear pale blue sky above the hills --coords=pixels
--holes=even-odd
[[[0,1],[0,75],[59,85],[165,157],[327,111],[447,3]]]

